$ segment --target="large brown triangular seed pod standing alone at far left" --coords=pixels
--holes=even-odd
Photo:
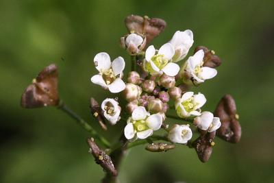
[[[23,108],[58,106],[58,67],[50,64],[43,69],[21,97]]]

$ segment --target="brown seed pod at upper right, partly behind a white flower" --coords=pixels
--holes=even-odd
[[[203,52],[205,53],[205,56],[203,57],[203,66],[216,68],[217,66],[221,65],[222,61],[219,58],[219,56],[216,56],[215,52],[213,50],[208,49],[207,47],[196,47],[194,53],[196,53],[200,49],[203,49]]]

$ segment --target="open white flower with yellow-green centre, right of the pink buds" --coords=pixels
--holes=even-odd
[[[199,93],[194,95],[193,92],[184,93],[181,99],[175,101],[175,109],[181,118],[190,116],[199,116],[200,108],[206,103],[206,97]]]

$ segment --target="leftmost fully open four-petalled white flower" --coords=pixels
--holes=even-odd
[[[95,56],[94,62],[99,74],[91,77],[92,83],[108,88],[111,93],[119,93],[125,89],[125,83],[121,80],[125,69],[125,61],[122,57],[110,62],[108,53],[101,52]]]

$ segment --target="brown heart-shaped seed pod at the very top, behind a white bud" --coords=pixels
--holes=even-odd
[[[166,22],[162,19],[152,18],[148,16],[129,15],[125,18],[125,26],[129,32],[138,33],[146,36],[147,45],[158,36],[166,27]]]

